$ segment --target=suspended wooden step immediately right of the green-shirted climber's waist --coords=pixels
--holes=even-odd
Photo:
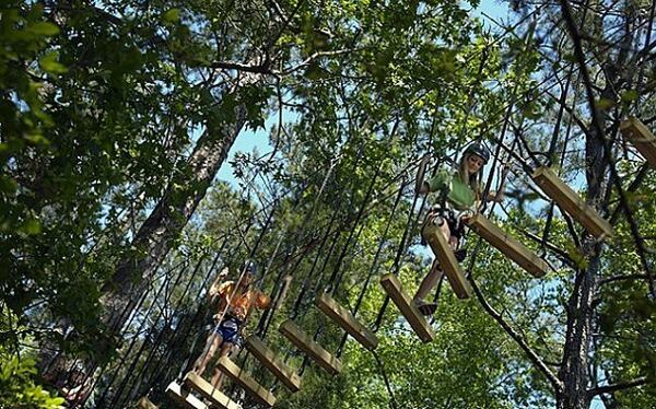
[[[478,235],[483,237],[484,241],[496,247],[496,249],[505,254],[511,260],[515,261],[534,277],[542,277],[547,273],[549,266],[543,259],[513,236],[499,229],[496,224],[492,223],[481,213],[475,214],[469,219],[467,224]]]

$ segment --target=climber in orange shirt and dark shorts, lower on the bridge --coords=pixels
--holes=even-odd
[[[239,281],[223,281],[227,276],[224,269],[210,288],[210,300],[219,299],[218,322],[214,330],[208,336],[203,353],[196,360],[194,372],[202,376],[208,363],[219,351],[219,358],[226,357],[233,350],[238,350],[244,343],[244,326],[254,308],[265,309],[269,306],[270,299],[261,291],[255,289],[254,282],[257,268],[253,261],[246,261],[242,268]],[[214,370],[212,385],[221,386],[221,372]]]

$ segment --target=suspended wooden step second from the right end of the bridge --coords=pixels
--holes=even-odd
[[[549,167],[538,167],[532,179],[563,211],[578,221],[595,237],[612,236],[612,227],[595,209],[588,206],[574,190],[561,180]]]

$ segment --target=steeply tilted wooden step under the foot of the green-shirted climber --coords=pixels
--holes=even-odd
[[[471,285],[467,281],[467,278],[465,278],[465,272],[462,272],[462,268],[456,259],[454,250],[444,238],[440,227],[430,223],[423,229],[422,234],[424,239],[429,242],[433,254],[437,258],[440,268],[446,273],[448,282],[458,299],[468,299],[471,296]]]

